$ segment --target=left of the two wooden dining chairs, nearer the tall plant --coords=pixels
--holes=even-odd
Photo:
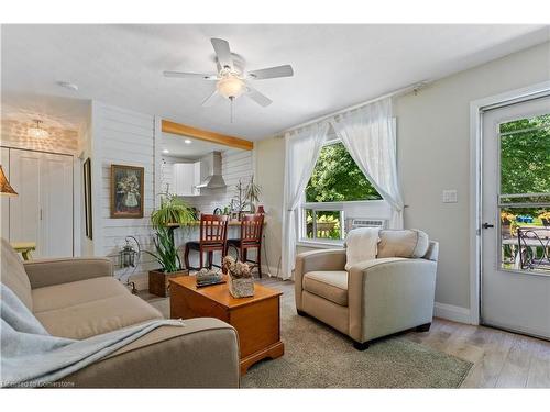
[[[215,252],[221,252],[221,259],[226,257],[227,241],[228,241],[228,222],[229,216],[218,214],[201,214],[200,215],[200,232],[198,242],[187,242],[185,244],[184,261],[187,269],[200,270],[205,267],[204,255],[208,254],[208,268],[212,268],[212,259]],[[193,268],[189,265],[189,252],[198,250],[199,267]],[[213,265],[217,267],[220,266]]]

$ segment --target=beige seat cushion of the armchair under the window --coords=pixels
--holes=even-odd
[[[309,271],[304,275],[304,290],[340,304],[348,305],[348,272]]]

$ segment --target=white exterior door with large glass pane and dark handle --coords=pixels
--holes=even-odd
[[[482,124],[482,323],[550,338],[550,98]]]

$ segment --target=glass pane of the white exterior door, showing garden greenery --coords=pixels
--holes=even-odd
[[[501,267],[550,275],[550,114],[498,125]]]

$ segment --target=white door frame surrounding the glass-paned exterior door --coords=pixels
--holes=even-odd
[[[550,93],[550,80],[470,103],[470,323],[480,324],[483,112]]]

